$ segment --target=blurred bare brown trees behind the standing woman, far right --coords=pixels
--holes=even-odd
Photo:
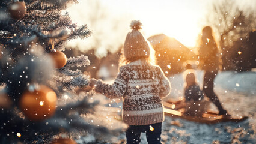
[[[207,25],[215,29],[222,50],[222,70],[251,71],[256,67],[256,13],[236,1],[214,2]]]

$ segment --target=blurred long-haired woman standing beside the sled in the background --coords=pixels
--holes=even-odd
[[[203,62],[201,65],[202,69],[206,72],[204,74],[203,91],[206,94],[206,97],[218,107],[219,115],[228,115],[227,110],[222,107],[219,98],[213,91],[213,80],[219,70],[218,47],[213,38],[212,28],[210,26],[204,27],[202,32],[202,43],[199,49],[199,56],[201,62]]]

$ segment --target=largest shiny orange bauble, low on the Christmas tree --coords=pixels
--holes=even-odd
[[[26,118],[40,121],[55,113],[57,95],[48,86],[39,85],[34,91],[25,91],[20,98],[20,109]]]

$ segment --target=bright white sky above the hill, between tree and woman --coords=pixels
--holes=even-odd
[[[112,13],[124,13],[141,20],[144,34],[150,37],[164,33],[176,38],[187,47],[194,47],[201,31],[209,1],[204,0],[101,0],[111,7]]]

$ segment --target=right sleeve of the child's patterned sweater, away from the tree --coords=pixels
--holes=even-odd
[[[159,68],[159,69],[160,69],[159,79],[160,79],[160,84],[161,84],[159,96],[160,96],[160,98],[165,98],[171,92],[171,83],[169,82],[168,78],[165,76],[165,74],[163,73],[161,68]]]

